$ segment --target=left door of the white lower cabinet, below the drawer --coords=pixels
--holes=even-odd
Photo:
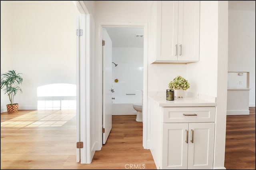
[[[188,123],[163,123],[162,168],[187,169]]]

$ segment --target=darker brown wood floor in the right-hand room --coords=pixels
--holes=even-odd
[[[250,115],[228,115],[226,120],[226,169],[255,169],[255,107]]]

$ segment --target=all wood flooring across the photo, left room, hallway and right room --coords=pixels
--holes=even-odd
[[[1,169],[156,169],[150,150],[142,148],[142,123],[135,118],[112,116],[107,143],[91,164],[80,164],[75,111],[2,113]],[[255,169],[255,107],[250,115],[227,116],[225,167]]]

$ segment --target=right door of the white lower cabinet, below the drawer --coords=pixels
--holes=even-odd
[[[188,169],[212,169],[214,123],[189,123]]]

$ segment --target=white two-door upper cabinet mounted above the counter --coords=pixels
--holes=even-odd
[[[151,63],[199,61],[200,1],[156,1],[151,15]]]

